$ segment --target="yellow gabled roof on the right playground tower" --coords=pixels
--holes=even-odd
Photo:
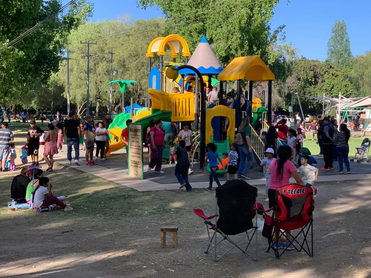
[[[260,82],[275,80],[275,75],[270,71],[259,56],[236,57],[219,73],[219,81],[239,80]]]

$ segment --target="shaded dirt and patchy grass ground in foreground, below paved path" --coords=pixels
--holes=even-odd
[[[214,262],[203,252],[205,225],[193,213],[201,208],[214,214],[214,193],[138,192],[61,164],[54,169],[45,176],[55,195],[67,197],[72,212],[12,212],[6,203],[19,170],[1,173],[0,277],[371,277],[370,180],[316,184],[313,258],[294,250],[275,259],[272,251],[265,252],[259,231],[257,261],[234,248]],[[258,189],[258,201],[267,208],[263,186]],[[166,248],[160,248],[164,225],[179,226],[177,249],[171,234]]]

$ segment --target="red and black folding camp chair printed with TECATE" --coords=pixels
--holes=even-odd
[[[263,215],[264,227],[262,235],[268,238],[267,252],[272,249],[277,259],[291,246],[298,252],[302,250],[313,257],[313,189],[308,186],[289,184],[276,189],[276,204],[264,212],[275,210],[272,216]],[[292,235],[292,230],[299,229],[298,234]],[[309,248],[307,236],[311,230],[311,247]],[[288,235],[286,235],[286,233]],[[299,235],[303,241],[299,242]],[[273,239],[275,236],[275,239]],[[289,244],[283,247],[280,240],[285,238]],[[291,238],[291,239],[290,239]],[[300,248],[299,248],[300,247]],[[283,249],[279,252],[279,249]]]

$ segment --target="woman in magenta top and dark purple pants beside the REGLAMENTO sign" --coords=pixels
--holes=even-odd
[[[164,130],[162,129],[162,120],[155,119],[155,126],[150,129],[151,138],[151,160],[148,163],[147,171],[151,172],[155,168],[155,173],[163,174],[162,166],[162,150],[164,150]]]

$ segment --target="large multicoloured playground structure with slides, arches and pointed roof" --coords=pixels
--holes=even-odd
[[[168,46],[171,51],[171,63],[164,62],[165,46]],[[151,68],[151,59],[154,53],[160,57],[159,69]],[[176,62],[179,54],[185,58],[185,64]],[[263,128],[266,122],[271,123],[271,94],[272,80],[275,76],[268,69],[265,63],[258,56],[237,57],[227,65],[225,69],[221,67],[213,50],[205,36],[202,37],[200,43],[196,47],[193,55],[189,51],[189,47],[185,40],[175,34],[158,37],[149,44],[146,53],[148,58],[148,100],[147,107],[137,110],[135,113],[121,113],[108,128],[110,136],[118,139],[122,129],[126,128],[126,120],[132,119],[135,123],[142,124],[143,142],[145,130],[147,130],[151,119],[161,119],[171,122],[194,122],[194,147],[195,153],[198,153],[200,158],[205,155],[206,144],[210,142],[216,143],[218,153],[229,151],[229,146],[233,143],[235,129],[239,126],[242,120],[243,113],[250,116],[250,127],[252,129],[252,147],[255,153],[256,160],[262,160],[264,157],[264,143],[255,132],[255,127],[259,120],[262,121]],[[190,59],[189,59],[190,57]],[[176,75],[167,76],[165,73],[164,63],[171,66],[172,71],[178,70]],[[247,111],[241,111],[240,106],[236,105],[236,109],[230,109],[223,106],[223,91],[229,91],[227,81],[237,80],[236,100],[240,99],[242,90],[240,88],[241,79],[246,76],[249,81],[249,98],[247,103]],[[217,77],[217,79],[213,78]],[[265,107],[265,99],[252,98],[253,82],[268,82],[268,109]],[[216,86],[219,89],[218,105],[209,105],[206,109],[206,99],[204,85]],[[173,93],[173,88],[178,87],[181,94]],[[192,91],[191,89],[192,88]],[[190,90],[191,92],[187,92]],[[234,94],[234,89],[232,89]],[[238,101],[237,101],[238,102]],[[236,101],[235,101],[236,103]],[[229,127],[225,134],[222,131],[222,120],[229,119]],[[115,137],[117,136],[117,137]],[[109,148],[109,155],[115,150],[124,148],[124,143],[119,139],[112,140]],[[193,159],[192,158],[192,165]],[[168,158],[168,154],[163,155]],[[199,159],[200,168],[202,167],[203,159]]]

